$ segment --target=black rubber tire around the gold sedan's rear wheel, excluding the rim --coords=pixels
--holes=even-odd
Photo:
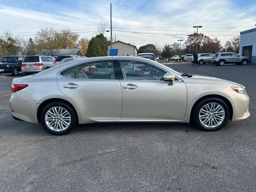
[[[62,107],[62,108],[64,108],[64,109],[66,109],[66,110],[69,112],[69,114],[70,114],[71,122],[70,122],[69,126],[68,126],[66,129],[64,129],[63,131],[54,131],[54,130],[50,129],[50,128],[46,125],[46,122],[45,122],[45,119],[44,119],[44,118],[45,118],[45,115],[46,115],[46,112],[47,112],[50,108],[52,108],[52,107],[54,107],[54,106],[55,106],[55,107],[56,107],[56,106]],[[49,133],[51,133],[51,134],[53,134],[53,135],[64,135],[64,134],[70,132],[70,131],[75,127],[75,125],[76,125],[76,114],[74,113],[74,110],[73,110],[70,106],[68,106],[67,104],[62,103],[62,102],[53,102],[53,103],[50,103],[50,104],[46,105],[46,106],[43,108],[42,112],[41,112],[40,119],[41,119],[41,124],[42,124],[42,126],[44,127],[44,129],[45,129],[47,132],[49,132]]]

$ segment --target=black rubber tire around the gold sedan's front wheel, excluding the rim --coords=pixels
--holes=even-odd
[[[217,104],[220,104],[220,105],[224,108],[225,117],[224,117],[223,122],[222,122],[219,126],[216,126],[216,127],[214,127],[214,128],[208,128],[207,126],[204,126],[204,125],[200,122],[200,119],[199,119],[199,112],[200,112],[201,108],[202,108],[205,104],[207,104],[207,103],[212,103],[212,102],[217,103]],[[223,127],[226,125],[226,123],[227,123],[228,120],[229,120],[229,116],[230,116],[230,111],[229,111],[228,105],[227,105],[223,100],[221,100],[221,99],[219,99],[219,98],[214,98],[214,97],[212,97],[212,98],[206,98],[206,99],[200,101],[200,102],[196,105],[196,107],[195,107],[194,111],[192,111],[192,113],[193,113],[193,114],[192,114],[192,123],[193,123],[196,127],[200,128],[200,129],[202,129],[202,130],[205,130],[205,131],[217,131],[217,130],[220,130],[221,128],[223,128]],[[209,115],[209,116],[210,116],[210,115]]]

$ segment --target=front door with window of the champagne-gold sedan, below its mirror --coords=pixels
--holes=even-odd
[[[184,119],[187,90],[182,80],[168,86],[161,80],[166,71],[147,62],[120,60],[120,65],[122,119]]]

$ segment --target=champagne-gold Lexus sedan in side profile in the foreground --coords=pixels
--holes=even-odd
[[[12,82],[16,120],[62,135],[97,122],[192,122],[216,131],[248,118],[245,87],[179,73],[145,58],[117,56],[67,62]]]

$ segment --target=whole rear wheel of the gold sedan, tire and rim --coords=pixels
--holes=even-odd
[[[66,134],[76,125],[74,111],[62,102],[53,102],[46,105],[40,118],[44,129],[54,135]]]

